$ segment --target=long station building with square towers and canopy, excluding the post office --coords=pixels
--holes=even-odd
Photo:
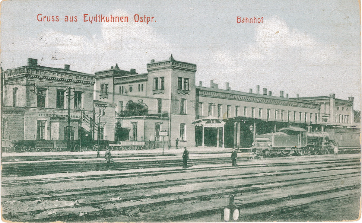
[[[205,134],[209,138],[204,140],[206,146],[216,146],[216,138],[223,146],[222,136],[217,136],[220,127],[202,130],[195,126],[195,120],[207,117],[226,123],[241,121],[241,134],[243,129],[244,134],[250,134],[250,123],[256,122],[257,134],[289,125],[311,126],[314,130],[321,125],[358,125],[353,123],[353,97],[340,100],[330,94],[290,98],[283,91],[277,96],[266,88],[261,91],[260,86],[254,92],[232,91],[228,83],[225,89],[219,89],[213,81],[210,87],[203,87],[201,82],[197,86],[196,64],[177,61],[172,55],[168,60],[151,60],[147,73],[121,70],[116,64],[95,74],[96,99],[116,105],[116,141],[165,140],[174,147],[178,139],[178,146],[201,146]],[[327,107],[329,110],[324,110]],[[161,137],[160,131],[167,132],[167,136]],[[230,131],[225,134],[226,141],[233,140]]]

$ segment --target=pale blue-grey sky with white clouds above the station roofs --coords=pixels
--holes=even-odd
[[[37,15],[59,16],[39,22]],[[84,22],[83,14],[128,16],[129,22]],[[135,22],[134,14],[156,22]],[[65,22],[77,16],[77,22]],[[237,23],[236,17],[263,17]],[[38,64],[94,73],[118,66],[146,73],[151,59],[197,65],[196,83],[225,89],[268,88],[289,97],[355,97],[361,110],[361,20],[357,0],[1,2],[1,67]]]

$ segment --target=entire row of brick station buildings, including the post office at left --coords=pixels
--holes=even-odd
[[[258,85],[254,92],[240,92],[231,90],[228,83],[220,89],[212,80],[210,87],[201,82],[197,86],[196,71],[196,64],[175,60],[172,55],[168,60],[151,60],[147,73],[121,70],[116,64],[94,75],[71,71],[69,65],[63,69],[40,66],[29,58],[27,66],[2,71],[3,139],[66,139],[69,87],[70,137],[74,140],[80,136],[108,141],[164,140],[169,147],[178,140],[179,147],[230,147],[222,139],[235,144],[235,138],[250,138],[252,131],[264,134],[289,125],[359,127],[353,123],[353,97],[290,98],[283,91],[275,96]],[[203,128],[206,122],[218,127]]]

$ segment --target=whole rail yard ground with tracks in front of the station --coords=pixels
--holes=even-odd
[[[230,150],[3,153],[1,206],[16,222],[220,222],[355,220],[360,154],[248,160]],[[101,157],[104,151],[101,151]],[[230,196],[234,197],[229,207]],[[232,220],[231,216],[231,220]]]

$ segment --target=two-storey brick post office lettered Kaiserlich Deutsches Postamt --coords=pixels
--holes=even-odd
[[[10,140],[64,140],[79,134],[92,137],[94,127],[94,75],[38,65],[28,59],[26,66],[1,71],[4,81],[2,137]],[[68,131],[70,88],[71,127]]]

